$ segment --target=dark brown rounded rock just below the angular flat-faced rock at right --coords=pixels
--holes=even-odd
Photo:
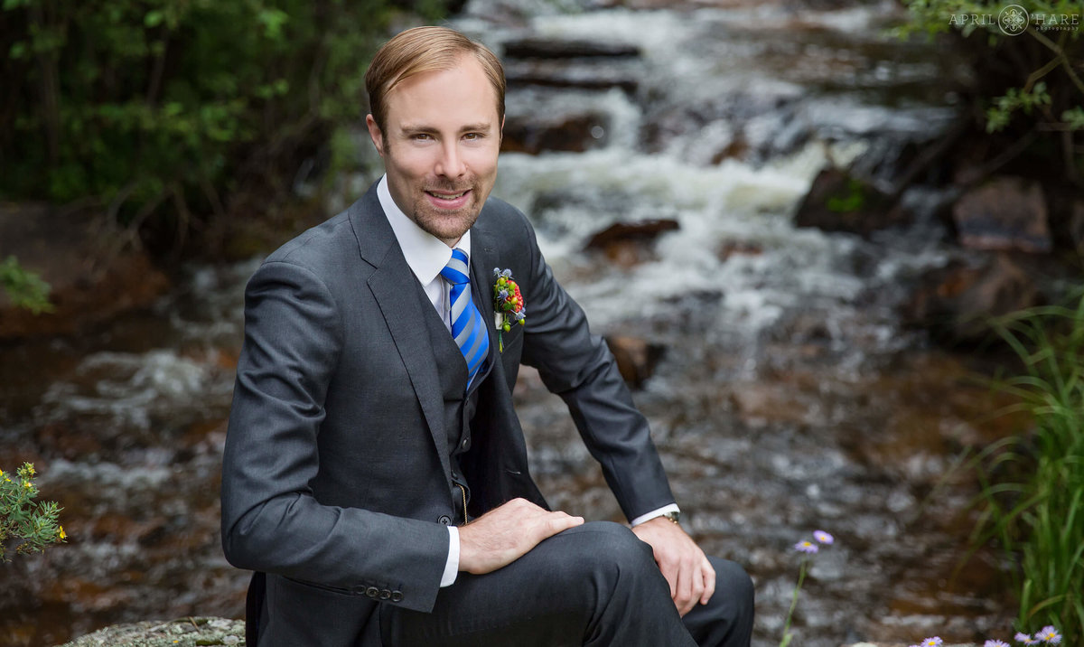
[[[990,333],[988,321],[1037,306],[1034,281],[1005,254],[979,267],[950,263],[924,276],[903,306],[905,325],[927,328],[949,341],[977,342]]]

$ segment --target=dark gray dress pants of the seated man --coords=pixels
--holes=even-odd
[[[430,613],[382,605],[389,647],[748,647],[752,582],[710,558],[715,593],[681,618],[651,547],[607,521],[556,534],[511,565],[461,572]]]

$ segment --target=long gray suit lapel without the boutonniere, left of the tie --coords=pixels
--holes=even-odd
[[[444,479],[451,490],[440,378],[431,353],[418,351],[430,348],[429,334],[422,323],[422,316],[427,313],[423,310],[421,299],[416,298],[417,279],[406,264],[391,225],[380,208],[380,200],[376,197],[376,184],[351,207],[350,224],[362,259],[375,268],[369,277],[369,288],[380,308],[391,340],[410,375],[440,457]]]

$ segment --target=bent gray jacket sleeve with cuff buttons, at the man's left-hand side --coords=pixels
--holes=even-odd
[[[430,611],[447,528],[313,496],[324,399],[343,348],[339,316],[304,267],[267,262],[249,281],[222,458],[222,546],[240,568],[345,594],[393,591],[386,601]]]

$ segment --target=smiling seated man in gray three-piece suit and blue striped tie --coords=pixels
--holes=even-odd
[[[500,63],[425,27],[365,81],[386,176],[246,290],[222,542],[257,571],[248,644],[748,645],[748,577],[675,522],[612,355],[526,218],[489,198]],[[494,268],[526,303],[500,339]],[[512,405],[520,362],[568,404],[631,531],[546,509]]]

